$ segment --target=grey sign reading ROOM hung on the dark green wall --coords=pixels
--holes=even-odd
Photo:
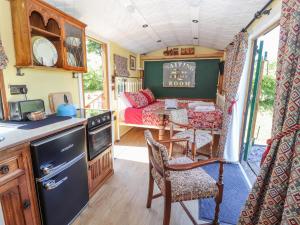
[[[195,87],[195,62],[170,62],[163,64],[163,87]]]

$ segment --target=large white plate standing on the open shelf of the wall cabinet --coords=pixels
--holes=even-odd
[[[58,55],[55,46],[42,36],[32,37],[32,52],[34,61],[43,66],[54,66]]]

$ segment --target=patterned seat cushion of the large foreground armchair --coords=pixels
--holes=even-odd
[[[191,162],[193,161],[187,157],[180,157],[169,161],[170,164]],[[162,194],[165,195],[163,177],[155,169],[152,169],[151,173]],[[212,198],[218,194],[216,181],[202,168],[187,171],[170,171],[168,179],[171,181],[172,202]]]

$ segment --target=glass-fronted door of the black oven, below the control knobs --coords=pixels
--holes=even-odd
[[[88,131],[88,158],[92,160],[112,144],[111,123]]]

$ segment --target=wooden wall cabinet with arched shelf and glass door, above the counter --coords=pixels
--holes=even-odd
[[[10,2],[16,67],[42,66],[34,60],[32,51],[32,38],[42,36],[47,38],[57,51],[54,68],[86,72],[84,23],[41,0]]]

